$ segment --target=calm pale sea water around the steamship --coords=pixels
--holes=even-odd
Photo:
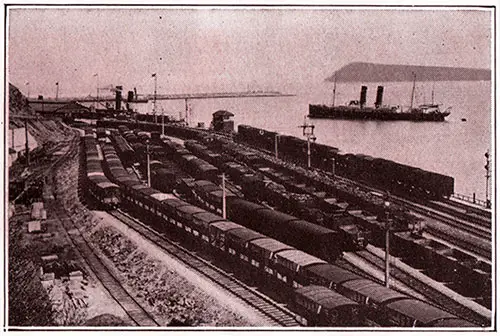
[[[359,99],[362,83],[337,84],[335,104]],[[376,83],[368,86],[368,104],[375,102]],[[384,104],[410,105],[412,83],[384,83]],[[491,82],[417,83],[415,103],[434,102],[442,109],[452,106],[446,122],[350,121],[313,119],[317,142],[344,152],[382,157],[455,178],[455,192],[485,199],[485,157],[491,148]],[[191,125],[208,127],[213,112],[224,109],[235,114],[235,125],[247,124],[302,136],[298,127],[308,114],[308,104],[331,104],[331,83],[322,83],[292,92],[294,97],[231,98],[189,101]],[[138,104],[141,113],[151,105]],[[159,101],[157,110],[176,118],[183,113],[184,101]],[[467,121],[462,121],[465,118]],[[490,189],[491,191],[491,189]]]

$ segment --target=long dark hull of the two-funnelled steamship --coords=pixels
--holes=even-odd
[[[449,113],[398,113],[386,108],[353,109],[309,105],[309,118],[347,119],[347,120],[407,120],[407,121],[445,121]]]

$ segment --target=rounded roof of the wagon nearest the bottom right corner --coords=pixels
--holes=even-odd
[[[431,306],[425,302],[416,299],[398,300],[387,304],[387,307],[412,317],[424,324],[432,321],[455,317],[439,308]]]

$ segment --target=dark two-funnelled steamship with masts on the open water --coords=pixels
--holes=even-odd
[[[361,87],[359,100],[351,100],[344,106],[326,106],[309,104],[310,118],[330,118],[330,119],[351,119],[351,120],[410,120],[410,121],[444,121],[450,115],[451,107],[441,111],[438,104],[422,104],[413,107],[413,96],[415,86],[412,91],[412,106],[403,111],[400,106],[383,106],[382,98],[384,87],[377,87],[377,98],[374,107],[366,106],[366,93],[368,88]],[[335,89],[334,89],[335,95]],[[335,102],[335,97],[334,100]]]

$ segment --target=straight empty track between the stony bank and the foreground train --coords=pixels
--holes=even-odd
[[[296,320],[295,313],[245,285],[223,270],[210,264],[168,238],[160,236],[160,234],[156,231],[142,224],[135,218],[128,216],[122,211],[113,210],[109,213],[161,247],[163,250],[167,251],[170,255],[176,257],[181,262],[192,267],[203,276],[217,283],[219,286],[228,290],[237,298],[250,305],[252,308],[257,310],[260,315],[265,317],[271,326],[300,326],[299,322]]]

